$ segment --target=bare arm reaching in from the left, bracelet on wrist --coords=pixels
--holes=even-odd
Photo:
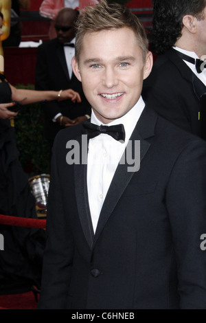
[[[68,100],[72,102],[81,102],[81,98],[78,92],[73,91],[72,89],[60,90],[60,91],[35,91],[28,89],[16,89],[10,85],[12,90],[12,100],[18,101],[21,104],[30,104],[40,101],[50,101],[50,100]]]

